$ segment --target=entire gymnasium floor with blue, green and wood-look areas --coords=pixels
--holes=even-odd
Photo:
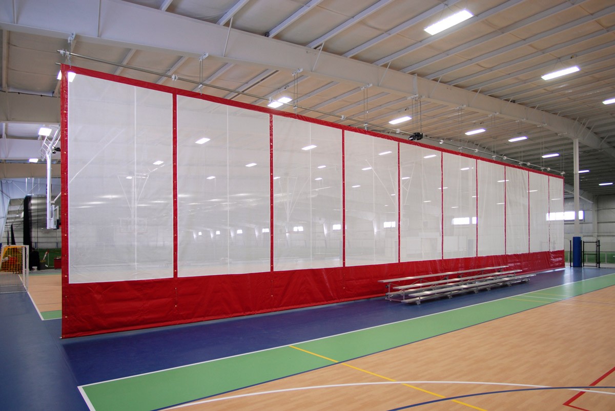
[[[0,410],[615,409],[615,268],[68,340],[59,284],[0,294]]]

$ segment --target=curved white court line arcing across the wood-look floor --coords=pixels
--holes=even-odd
[[[370,382],[370,383],[347,383],[347,384],[314,385],[314,386],[297,387],[297,388],[273,389],[271,391],[261,391],[260,393],[239,394],[239,395],[234,395],[234,396],[229,396],[229,397],[205,399],[202,401],[188,402],[186,404],[175,405],[170,408],[165,408],[164,410],[175,410],[175,409],[180,409],[180,408],[185,408],[185,407],[191,407],[192,405],[207,404],[208,402],[224,401],[228,399],[252,397],[252,396],[264,395],[264,394],[278,394],[278,393],[287,393],[291,391],[303,391],[305,389],[343,388],[343,387],[362,386],[362,385],[387,385],[387,384],[412,384],[412,385],[416,385],[416,384],[468,384],[468,385],[476,384],[476,385],[520,386],[520,387],[529,387],[529,388],[557,388],[557,387],[553,387],[549,385],[488,383],[488,382],[475,382],[475,381],[395,381],[395,382],[387,381],[387,382]],[[597,394],[615,395],[615,393],[609,393],[608,391],[594,391],[593,389],[582,389],[582,388],[561,388],[561,389],[568,389],[569,391],[579,391],[582,393],[597,393]]]

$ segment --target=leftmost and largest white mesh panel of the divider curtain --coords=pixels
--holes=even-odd
[[[173,276],[172,95],[69,84],[71,283]]]

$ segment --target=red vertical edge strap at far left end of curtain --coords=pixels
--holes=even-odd
[[[62,233],[62,306],[65,307],[65,299],[68,298],[68,67],[62,65],[62,80],[60,80],[60,181],[62,198],[62,216],[60,219],[60,232]],[[66,313],[63,313],[65,318]],[[64,328],[63,328],[64,329]],[[65,332],[62,331],[62,337]]]

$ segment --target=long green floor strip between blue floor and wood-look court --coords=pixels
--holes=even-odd
[[[296,344],[300,350],[283,346],[81,388],[98,411],[160,409],[389,350],[613,285],[615,273]]]

